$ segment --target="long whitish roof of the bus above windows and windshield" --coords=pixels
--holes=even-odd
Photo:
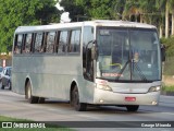
[[[18,26],[15,33],[80,27],[83,25],[156,28],[156,26],[145,23],[128,22],[128,21],[95,20],[95,21],[72,22],[72,23],[54,23],[50,25]]]

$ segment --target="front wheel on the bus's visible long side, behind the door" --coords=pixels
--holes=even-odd
[[[75,86],[72,92],[71,104],[74,106],[75,110],[77,111],[85,111],[87,108],[87,104],[79,103],[79,94],[78,94],[77,86]]]

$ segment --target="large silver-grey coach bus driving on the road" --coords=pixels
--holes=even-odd
[[[55,98],[77,111],[88,105],[137,111],[158,105],[162,51],[157,27],[95,20],[15,29],[12,91],[30,104]]]

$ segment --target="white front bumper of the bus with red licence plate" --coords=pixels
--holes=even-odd
[[[95,88],[96,105],[158,105],[160,91],[145,94],[124,94]]]

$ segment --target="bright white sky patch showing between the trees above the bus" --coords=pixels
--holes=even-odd
[[[59,0],[60,2],[61,0]],[[55,4],[55,7],[60,10],[60,11],[64,11],[64,8],[63,7],[60,7],[59,2]],[[61,20],[60,20],[60,23],[66,23],[66,22],[71,22],[71,19],[69,17],[69,12],[63,12],[61,14]]]

